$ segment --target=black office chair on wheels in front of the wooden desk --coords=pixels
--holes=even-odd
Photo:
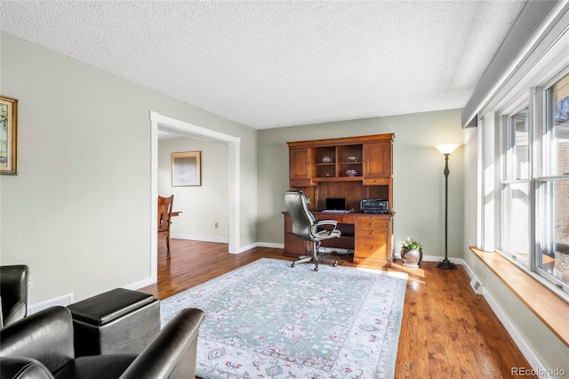
[[[323,256],[318,257],[318,247],[320,241],[328,238],[339,238],[341,231],[336,230],[338,222],[335,220],[317,220],[314,214],[310,213],[309,206],[306,204],[306,197],[301,190],[290,190],[284,194],[284,205],[293,220],[293,235],[298,238],[312,242],[312,255],[301,255],[296,263],[314,262],[314,270],[318,270],[318,262],[332,263],[333,267],[338,265],[338,261]]]

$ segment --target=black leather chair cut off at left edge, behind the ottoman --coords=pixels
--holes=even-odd
[[[7,327],[28,314],[28,275],[25,264],[0,266],[0,327]]]

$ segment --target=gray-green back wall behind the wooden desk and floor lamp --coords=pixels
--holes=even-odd
[[[376,117],[320,125],[259,131],[258,239],[283,243],[284,192],[288,189],[287,141],[395,133],[393,209],[394,246],[409,237],[421,241],[423,253],[445,254],[445,159],[435,145],[462,143],[460,109]],[[464,159],[459,147],[450,158],[448,254],[462,258],[464,230]]]

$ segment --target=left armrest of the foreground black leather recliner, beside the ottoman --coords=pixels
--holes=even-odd
[[[75,359],[73,319],[65,307],[50,307],[0,330],[0,357],[39,360],[54,373]]]

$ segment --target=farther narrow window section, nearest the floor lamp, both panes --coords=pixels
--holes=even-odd
[[[501,164],[501,251],[529,265],[529,106],[505,120]]]

